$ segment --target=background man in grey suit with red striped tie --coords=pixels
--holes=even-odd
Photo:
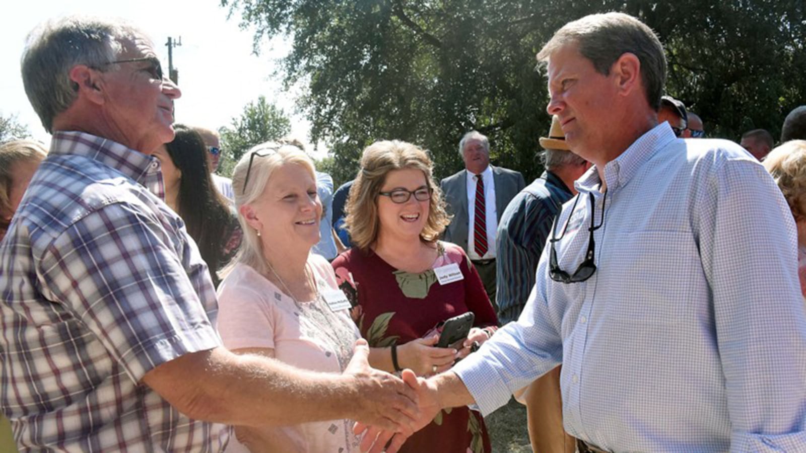
[[[462,137],[459,153],[465,169],[440,183],[448,212],[453,214],[444,239],[467,251],[495,305],[499,213],[526,182],[520,172],[490,165],[490,142],[478,131]]]

